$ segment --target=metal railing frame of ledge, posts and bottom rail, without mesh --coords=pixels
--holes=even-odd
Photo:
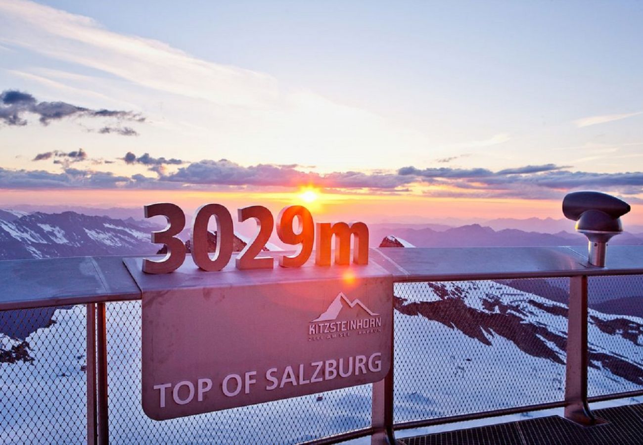
[[[565,417],[580,424],[595,422],[589,401],[642,395],[643,390],[587,397],[587,286],[589,276],[643,274],[643,246],[611,247],[607,268],[588,264],[577,248],[443,248],[372,249],[373,262],[395,282],[493,280],[569,277],[570,306],[565,400],[480,413],[394,423],[393,367],[373,384],[372,426],[311,443],[340,442],[371,435],[393,442],[394,430],[565,407]],[[359,267],[359,266],[358,266]],[[226,269],[221,273],[225,273]],[[67,277],[62,281],[60,276]],[[25,282],[24,277],[30,277]],[[32,279],[33,278],[33,279]],[[55,278],[55,279],[54,279]],[[87,441],[107,444],[107,338],[105,302],[140,300],[141,291],[123,266],[123,257],[76,257],[0,261],[0,311],[58,305],[87,305]],[[93,364],[95,363],[95,367]]]

